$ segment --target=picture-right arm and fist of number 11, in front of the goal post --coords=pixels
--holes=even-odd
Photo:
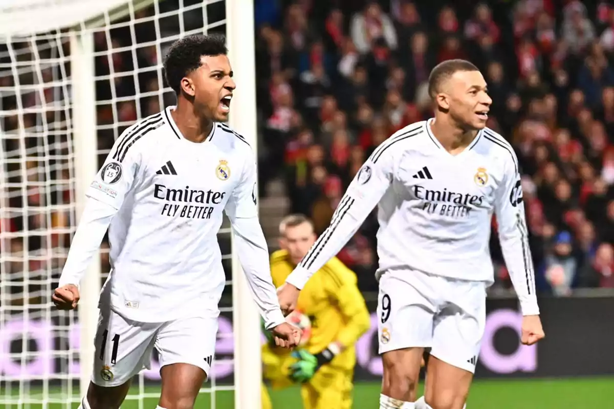
[[[293,339],[297,336],[296,330],[286,323],[271,278],[268,246],[258,221],[256,180],[256,165],[250,161],[244,169],[241,182],[228,199],[225,212],[235,232],[239,262],[265,321],[265,328],[273,330],[274,335],[281,337],[282,341],[289,342],[282,345],[278,343],[279,346],[294,346],[298,343],[298,338]]]

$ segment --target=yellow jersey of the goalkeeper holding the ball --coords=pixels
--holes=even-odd
[[[274,285],[281,286],[294,267],[286,250],[273,253],[271,276]],[[354,344],[370,326],[367,305],[356,284],[356,274],[333,257],[300,292],[297,310],[311,319],[311,338],[304,348],[317,354],[331,342],[339,342],[345,349],[330,365],[352,369],[356,364]]]

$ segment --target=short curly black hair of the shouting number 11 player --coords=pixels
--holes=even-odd
[[[226,38],[222,34],[193,34],[177,40],[164,58],[164,75],[168,86],[179,94],[181,78],[200,67],[203,55],[227,55]]]

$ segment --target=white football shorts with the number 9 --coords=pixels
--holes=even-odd
[[[430,354],[475,371],[486,324],[486,287],[416,270],[387,270],[379,278],[379,353],[431,348]]]

